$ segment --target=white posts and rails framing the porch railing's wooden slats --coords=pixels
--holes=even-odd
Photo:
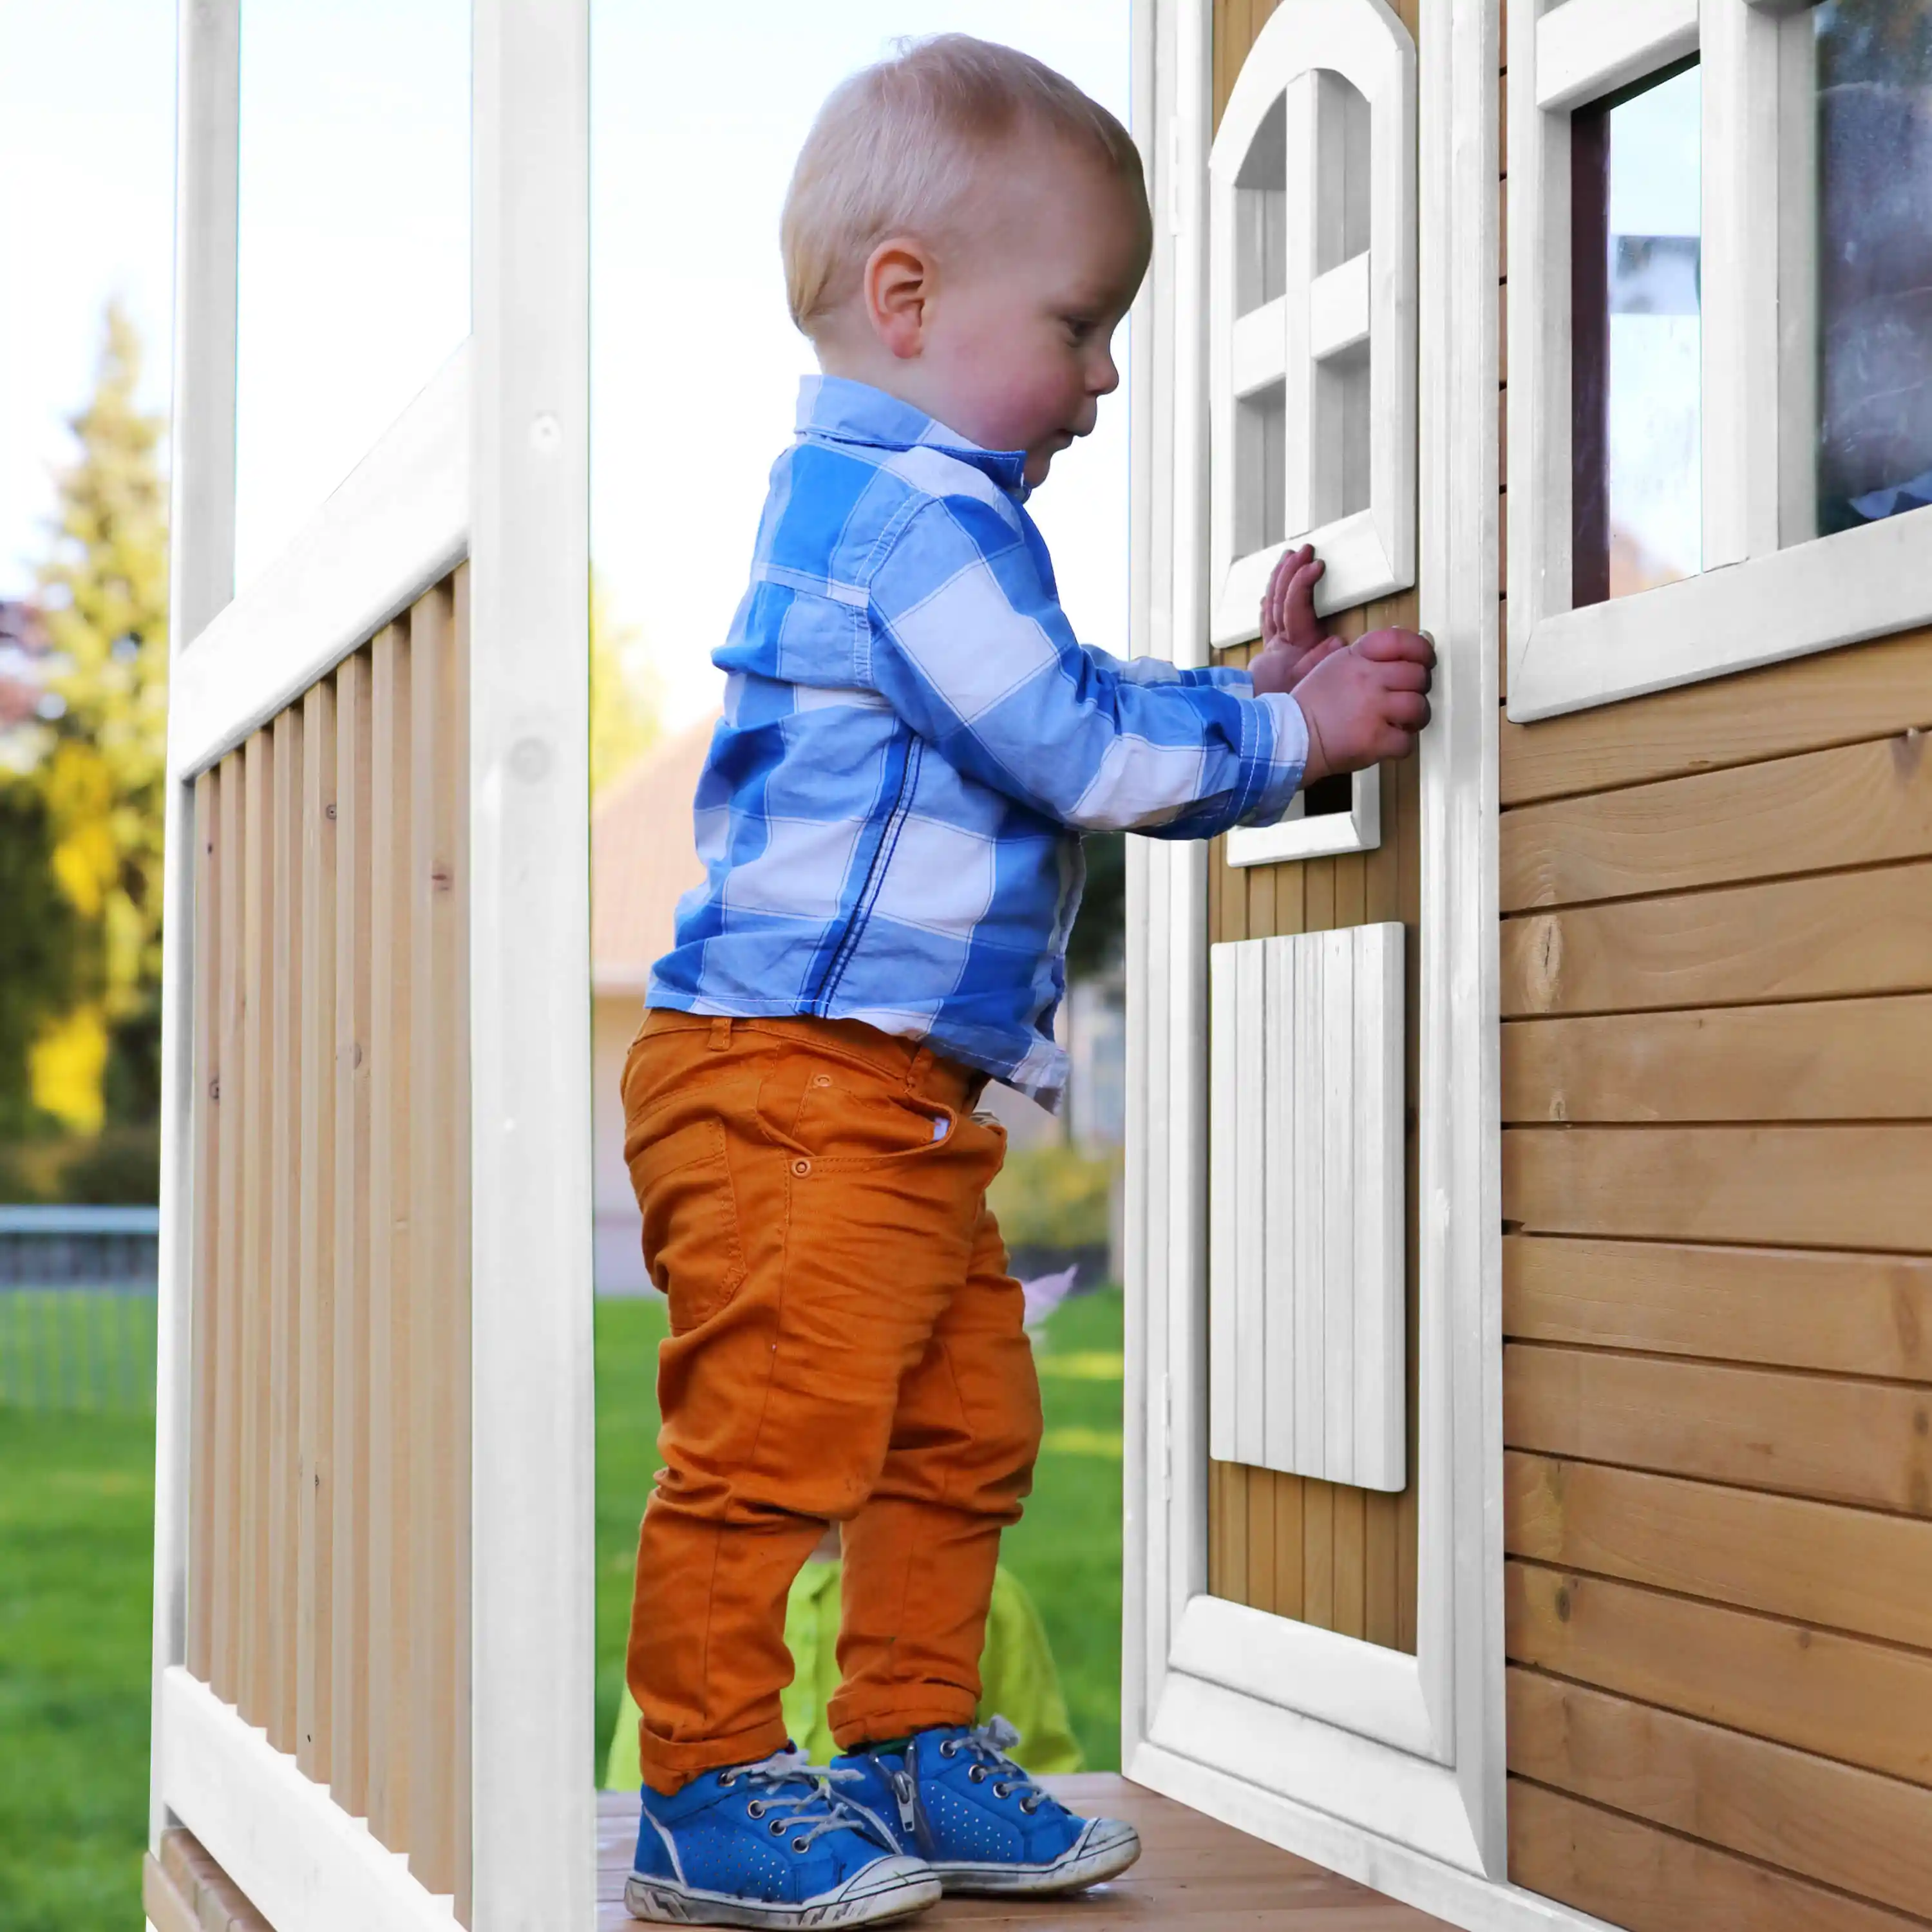
[[[284,1932],[454,1924],[185,1671],[193,777],[469,556],[473,1932],[597,1915],[591,1789],[589,19],[473,0],[471,336],[234,599],[242,0],[178,0],[149,1847]]]

